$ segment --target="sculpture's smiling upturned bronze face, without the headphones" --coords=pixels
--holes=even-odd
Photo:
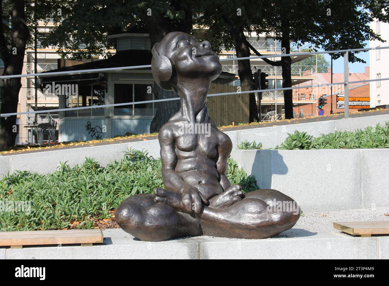
[[[177,76],[208,77],[212,81],[221,73],[219,57],[208,41],[201,42],[192,35],[172,32],[160,42],[158,49],[173,61]]]

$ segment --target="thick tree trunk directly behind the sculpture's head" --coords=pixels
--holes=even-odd
[[[170,5],[179,8],[179,1],[172,1]],[[178,9],[179,10],[179,9]],[[186,7],[186,17],[180,22],[165,18],[163,14],[152,14],[145,16],[144,22],[150,36],[151,47],[156,42],[159,42],[170,32],[191,33],[192,30],[192,12],[191,7]],[[154,83],[152,87],[154,99],[166,99],[178,97],[174,91],[166,91]],[[150,133],[159,132],[159,129],[164,125],[175,113],[180,109],[179,100],[162,101],[158,104],[157,112],[151,121]]]

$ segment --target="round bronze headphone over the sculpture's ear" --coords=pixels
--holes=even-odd
[[[155,43],[151,49],[151,72],[154,77],[154,81],[160,88],[166,90],[173,90],[170,79],[173,75],[174,63],[167,56],[161,56],[158,52],[158,44]]]

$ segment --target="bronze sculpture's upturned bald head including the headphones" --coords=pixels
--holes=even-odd
[[[177,82],[182,84],[179,78],[213,81],[221,73],[221,64],[208,41],[171,32],[152,47],[151,70],[161,88],[176,90]]]

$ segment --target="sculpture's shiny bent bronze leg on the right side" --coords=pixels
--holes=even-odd
[[[204,209],[200,219],[204,235],[263,239],[292,228],[300,212],[298,204],[287,195],[261,189],[245,193],[230,207]]]

